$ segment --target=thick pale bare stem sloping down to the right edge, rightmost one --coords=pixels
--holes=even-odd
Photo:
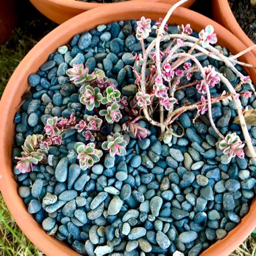
[[[234,103],[236,104],[236,111],[238,113],[238,117],[239,117],[240,125],[241,125],[242,131],[243,131],[243,135],[245,136],[245,142],[247,143],[248,150],[249,150],[253,160],[256,162],[256,152],[253,148],[253,144],[251,143],[251,137],[249,135],[249,131],[247,129],[247,124],[245,122],[245,117],[243,115],[243,107],[242,107],[241,101],[239,100],[238,97],[236,97],[236,91],[234,90],[233,86],[230,84],[228,79],[226,79],[226,77],[224,77],[224,75],[222,75],[220,73],[218,73],[218,76],[220,77],[222,82],[225,84],[225,86],[228,88],[228,90],[232,94],[232,98],[234,100]]]

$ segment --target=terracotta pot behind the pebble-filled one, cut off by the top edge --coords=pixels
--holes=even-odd
[[[138,0],[131,0],[138,1]],[[141,0],[139,0],[141,1]],[[75,0],[30,0],[30,2],[53,22],[61,24],[75,15],[88,11],[90,9],[100,7],[102,5],[113,5],[113,3],[85,3]],[[177,3],[178,0],[146,0],[147,5],[155,5],[156,3]],[[195,0],[188,0],[183,4],[183,7],[190,7]]]

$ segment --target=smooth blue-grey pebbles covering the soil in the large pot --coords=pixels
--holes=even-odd
[[[113,22],[77,34],[28,77],[32,98],[24,102],[14,119],[13,158],[20,156],[27,135],[43,133],[49,117],[88,113],[79,102],[77,88],[65,75],[74,63],[85,63],[90,72],[103,69],[122,94],[136,93],[130,65],[131,57],[141,51],[141,44],[134,36],[135,24]],[[178,32],[176,26],[169,26],[169,30]],[[216,48],[228,55],[226,49]],[[203,65],[212,64],[226,73],[233,84],[238,82],[223,63],[199,58]],[[197,78],[199,74],[195,74]],[[219,96],[219,89],[211,88],[212,96]],[[249,90],[249,86],[245,84],[239,90]],[[179,106],[200,97],[195,88],[175,94]],[[241,100],[243,106],[256,108],[255,96],[242,96]],[[241,134],[240,127],[232,123],[236,117],[234,102],[214,104],[212,115],[223,134]],[[75,142],[84,138],[75,129],[66,131],[63,144],[50,148],[47,164],[34,166],[33,172],[25,174],[13,169],[28,212],[46,232],[68,243],[77,253],[171,255],[178,250],[198,255],[224,238],[249,212],[256,167],[249,164],[247,156],[233,158],[229,165],[221,164],[222,152],[215,146],[218,136],[207,120],[193,123],[194,116],[195,112],[189,111],[179,117],[185,135],[172,137],[168,145],[158,141],[156,127],[140,121],[150,130],[148,137],[138,140],[124,133],[127,155],[111,157],[104,153],[90,170],[79,168],[74,149]],[[173,128],[178,129],[176,125]],[[102,129],[105,134],[111,131],[122,132],[121,125]],[[256,127],[249,127],[249,132],[255,146]]]

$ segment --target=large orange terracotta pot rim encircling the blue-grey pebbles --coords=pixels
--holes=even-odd
[[[42,250],[48,256],[71,256],[77,255],[67,245],[57,241],[52,236],[44,232],[40,224],[34,220],[33,216],[28,214],[26,205],[22,198],[18,195],[18,184],[12,171],[11,151],[13,145],[13,137],[15,134],[15,125],[13,118],[17,112],[16,106],[21,102],[21,96],[28,88],[28,75],[38,71],[38,68],[44,63],[49,55],[56,51],[58,46],[66,44],[71,40],[72,36],[91,28],[95,28],[99,24],[108,24],[119,20],[139,19],[141,15],[158,20],[164,18],[170,5],[159,3],[152,7],[139,2],[120,3],[106,5],[98,9],[92,9],[86,13],[77,15],[75,18],[65,22],[61,26],[55,28],[51,33],[45,36],[34,48],[26,55],[20,65],[9,79],[9,83],[5,88],[3,97],[0,102],[0,189],[7,203],[13,218],[18,223],[24,234],[28,236],[30,241]],[[246,48],[236,36],[228,32],[225,28],[216,22],[206,18],[205,16],[195,13],[189,9],[179,8],[174,11],[170,20],[172,24],[191,24],[195,31],[205,28],[207,24],[214,26],[218,34],[218,43],[226,46],[232,53],[236,54]],[[240,59],[247,63],[255,63],[255,57],[251,53],[247,53]],[[256,82],[256,70],[247,69],[254,83]],[[256,202],[253,201],[249,214],[243,218],[240,224],[236,226],[228,235],[214,243],[209,249],[204,251],[202,255],[218,255],[226,256],[253,231],[256,226]]]

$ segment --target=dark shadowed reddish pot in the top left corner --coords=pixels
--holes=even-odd
[[[15,1],[0,0],[0,44],[3,44],[11,35],[15,25]]]

